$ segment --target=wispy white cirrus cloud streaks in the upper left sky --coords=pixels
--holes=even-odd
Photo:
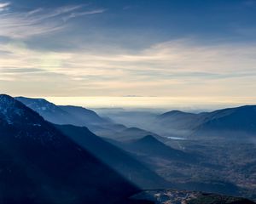
[[[84,10],[84,5],[69,5],[59,8],[34,8],[29,11],[9,9],[10,3],[0,3],[0,36],[27,38],[60,31],[67,20],[89,14],[103,13],[105,9]]]

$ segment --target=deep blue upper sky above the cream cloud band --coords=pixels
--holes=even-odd
[[[81,6],[66,14],[55,16],[55,20],[62,17],[65,20],[65,16],[69,18],[70,14],[74,14],[67,22],[59,22],[58,26],[70,26],[69,31],[63,29],[57,33],[59,41],[69,42],[72,40],[70,38],[78,37],[87,43],[96,44],[96,40],[106,43],[105,40],[108,40],[109,43],[131,48],[147,47],[152,43],[183,37],[196,37],[203,43],[255,41],[255,0],[16,0],[9,3],[10,12]],[[75,14],[83,14],[86,11],[99,13],[74,17]],[[44,45],[40,43],[41,46],[42,44]],[[63,42],[58,46],[63,47]]]

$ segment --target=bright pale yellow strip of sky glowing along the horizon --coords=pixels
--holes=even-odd
[[[223,108],[253,105],[255,98],[230,101],[228,98],[191,97],[44,97],[55,105],[79,105],[85,108],[124,108],[140,111],[215,111]]]

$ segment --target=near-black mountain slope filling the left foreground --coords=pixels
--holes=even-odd
[[[138,192],[38,113],[3,94],[0,135],[1,203],[122,203]]]

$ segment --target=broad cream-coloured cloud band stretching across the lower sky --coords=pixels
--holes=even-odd
[[[2,45],[1,52],[0,87],[8,81],[16,88],[40,84],[49,95],[256,97],[253,43],[201,45],[183,39],[133,54],[119,48],[49,52],[12,43]],[[37,94],[27,85],[29,90]]]

